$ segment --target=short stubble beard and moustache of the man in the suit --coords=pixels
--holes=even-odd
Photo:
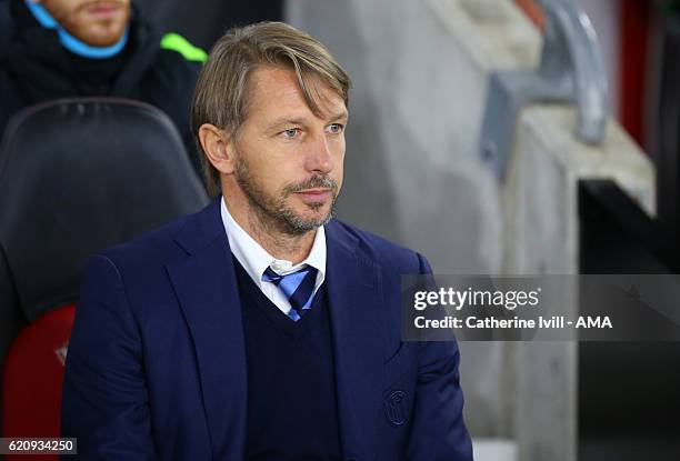
[[[336,200],[338,198],[338,183],[332,178],[322,174],[314,174],[309,180],[297,184],[290,184],[283,188],[279,197],[273,197],[267,193],[257,182],[248,162],[243,157],[239,156],[236,164],[234,179],[248,202],[251,210],[256,213],[259,223],[263,230],[270,233],[271,230],[277,230],[287,235],[299,237],[307,232],[327,224],[336,212]],[[313,189],[326,188],[331,190],[332,202],[329,212],[317,219],[306,219],[296,212],[292,208],[286,204],[286,200],[293,193]],[[307,207],[312,211],[318,211],[324,203],[313,202]]]

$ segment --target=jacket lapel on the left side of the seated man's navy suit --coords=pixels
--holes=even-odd
[[[193,338],[214,459],[243,459],[247,369],[241,309],[231,250],[216,201],[176,241],[189,258],[169,264]]]

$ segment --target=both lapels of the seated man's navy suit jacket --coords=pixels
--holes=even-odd
[[[169,264],[199,363],[216,459],[243,459],[248,402],[241,309],[220,202],[188,220],[176,242],[188,258]],[[379,267],[339,222],[327,226],[327,290],[344,457],[370,460],[382,388]]]

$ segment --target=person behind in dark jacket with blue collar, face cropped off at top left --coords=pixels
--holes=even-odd
[[[12,116],[36,103],[134,99],[170,117],[200,170],[189,109],[207,59],[201,49],[177,33],[161,36],[131,0],[6,1],[11,30],[0,51],[0,134]]]

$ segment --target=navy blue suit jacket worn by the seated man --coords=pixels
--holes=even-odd
[[[400,274],[428,262],[337,220],[326,235],[344,459],[470,461],[457,344],[400,339]],[[88,460],[242,460],[246,370],[218,200],[88,261],[62,435]]]

